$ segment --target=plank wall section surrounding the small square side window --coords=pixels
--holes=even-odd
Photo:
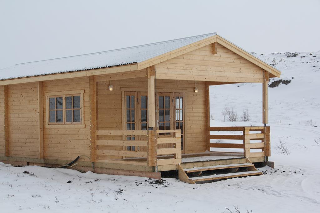
[[[84,125],[85,128],[50,128],[47,122],[47,92],[84,90]],[[44,105],[44,158],[73,160],[77,156],[90,157],[90,124],[89,124],[89,77],[50,80],[43,82]],[[49,125],[50,126],[50,125]],[[81,157],[82,161],[90,161]]]

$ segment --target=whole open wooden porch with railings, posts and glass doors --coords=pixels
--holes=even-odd
[[[91,91],[94,91],[92,103],[95,103],[92,112],[96,112],[93,116],[97,119],[94,129],[92,128],[92,134],[94,134],[91,144],[92,161],[118,166],[119,169],[144,172],[178,170],[179,164],[185,162],[239,157],[247,157],[252,163],[267,161],[270,156],[268,126],[210,126],[210,85],[237,82],[208,81],[210,78],[203,81],[197,76],[193,79],[195,80],[177,80],[170,75],[156,75],[155,66],[148,67],[145,71],[95,77],[91,85]],[[264,80],[255,80],[262,83],[263,123],[268,122],[268,80],[267,72]],[[113,85],[113,91],[106,89],[109,84]],[[179,84],[188,89],[180,88]],[[183,97],[181,101],[183,107],[173,107],[170,111],[174,120],[173,125],[166,126],[165,115],[162,118],[164,120],[160,118],[159,111],[162,108],[159,107],[159,98],[161,98],[159,93],[173,94],[168,95],[170,103],[172,98],[172,105]],[[112,100],[108,100],[111,103],[104,100],[108,97],[113,97]],[[133,115],[134,121],[132,110],[135,107],[131,103],[132,97],[137,105],[141,105],[142,97],[146,97],[146,102],[143,102],[146,106],[138,107],[139,109]],[[197,103],[203,103],[203,105],[196,108],[199,105]],[[120,112],[119,118],[105,114],[106,111],[114,108],[116,111],[111,113]],[[163,108],[164,111],[170,110],[170,107]],[[147,110],[145,119],[141,117],[142,110]],[[182,115],[181,118],[179,114]],[[105,124],[110,119],[114,122]],[[119,124],[116,124],[116,121]],[[164,123],[163,126],[159,125],[161,122]],[[145,126],[144,123],[146,123]],[[135,126],[132,128],[132,125]],[[217,142],[218,140],[233,142],[220,143]],[[188,149],[190,145],[192,147]],[[199,149],[196,148],[197,145]],[[216,148],[223,148],[223,150],[217,151]],[[235,152],[234,149],[242,149],[242,152]]]

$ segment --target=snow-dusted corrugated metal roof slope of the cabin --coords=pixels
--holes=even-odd
[[[209,33],[123,49],[17,64],[0,69],[0,80],[139,63],[215,34]]]

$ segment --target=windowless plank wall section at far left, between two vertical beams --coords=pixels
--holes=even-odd
[[[38,158],[38,84],[8,85],[9,156]]]

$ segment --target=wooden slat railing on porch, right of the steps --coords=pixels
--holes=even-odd
[[[209,131],[242,131],[243,134],[210,134],[208,135],[208,148],[242,148],[245,157],[270,156],[270,127],[269,126],[227,126],[209,127]],[[260,133],[250,133],[258,131]],[[217,140],[242,140],[243,143],[211,143],[211,139]],[[261,142],[250,143],[250,140],[261,140]],[[260,152],[250,152],[250,149],[261,149]]]

